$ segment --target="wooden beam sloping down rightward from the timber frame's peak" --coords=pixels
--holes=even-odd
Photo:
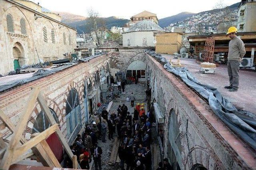
[[[37,101],[38,101],[42,111],[45,113],[46,117],[48,118],[50,124],[54,125],[56,123],[56,121],[55,121],[54,117],[52,116],[52,113],[51,113],[49,107],[45,103],[41,92],[38,94]],[[56,130],[56,134],[58,135],[58,138],[60,139],[60,142],[62,143],[64,149],[66,150],[69,158],[72,160],[73,153],[72,153],[70,146],[68,145],[66,139],[64,138],[62,132],[60,131],[60,129]],[[80,168],[79,164],[78,164],[78,168]]]

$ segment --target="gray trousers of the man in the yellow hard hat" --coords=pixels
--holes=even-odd
[[[240,61],[228,60],[228,76],[230,87],[238,88]]]

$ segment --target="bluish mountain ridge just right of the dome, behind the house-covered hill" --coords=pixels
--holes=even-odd
[[[182,21],[190,16],[193,16],[195,13],[192,12],[181,12],[177,15],[174,16],[169,16],[166,18],[162,18],[160,20],[158,20],[158,25],[162,28],[169,26],[172,23],[176,23],[179,21]]]

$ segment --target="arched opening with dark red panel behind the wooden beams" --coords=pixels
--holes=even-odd
[[[54,112],[53,109],[49,108],[52,116],[54,117],[54,120],[56,123],[60,124],[57,114]],[[43,111],[40,111],[40,113],[37,115],[36,120],[34,122],[33,128],[32,128],[32,134],[33,133],[40,133],[49,128],[50,122],[45,116],[45,113]],[[49,144],[52,152],[56,156],[59,162],[63,160],[63,147],[62,144],[58,138],[58,135],[56,133],[51,134],[47,139],[46,142]]]

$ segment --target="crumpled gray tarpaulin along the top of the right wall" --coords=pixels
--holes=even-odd
[[[174,68],[162,57],[161,54],[156,54],[154,51],[146,50],[162,64],[164,68],[180,77],[188,86],[192,87],[202,97],[208,100],[213,112],[238,136],[246,141],[252,148],[256,150],[256,119],[255,115],[248,111],[238,111],[232,103],[225,99],[220,92],[206,84],[200,83],[186,67]]]

